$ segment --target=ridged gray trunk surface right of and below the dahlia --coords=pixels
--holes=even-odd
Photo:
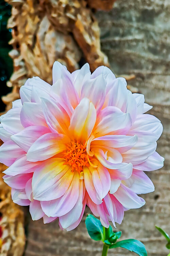
[[[164,132],[157,151],[165,157],[161,170],[147,173],[155,192],[142,195],[146,205],[125,212],[117,231],[122,239],[135,238],[145,243],[148,255],[166,256],[166,240],[155,224],[170,233],[170,1],[117,0],[109,12],[98,11],[102,51],[108,56],[117,76],[135,74],[129,82],[153,105],[151,114],[158,117]],[[86,213],[90,213],[86,208]],[[100,256],[102,242],[90,239],[85,215],[73,231],[62,231],[57,221],[43,224],[29,220],[25,256]],[[108,255],[135,255],[125,249],[112,249]]]

